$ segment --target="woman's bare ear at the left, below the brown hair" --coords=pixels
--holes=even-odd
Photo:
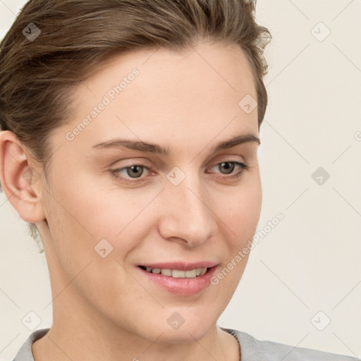
[[[20,218],[29,223],[45,219],[39,197],[42,169],[36,163],[15,133],[10,130],[0,132],[1,187]]]

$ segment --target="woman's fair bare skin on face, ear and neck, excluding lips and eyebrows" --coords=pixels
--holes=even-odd
[[[239,360],[238,341],[217,319],[248,256],[192,296],[161,289],[136,266],[212,260],[221,270],[255,234],[262,204],[257,142],[211,152],[234,135],[259,137],[257,108],[247,114],[238,106],[246,94],[257,99],[255,83],[237,45],[154,51],[116,55],[74,88],[73,117],[50,135],[49,183],[15,135],[0,133],[1,184],[20,217],[37,225],[49,267],[53,325],[32,345],[36,361]],[[140,75],[67,140],[133,68]],[[114,137],[157,143],[172,155],[92,148]],[[228,174],[224,161],[249,169],[232,179],[242,169],[235,164]],[[133,184],[109,171],[136,164],[147,167],[142,181],[131,169],[118,173]],[[185,174],[179,185],[166,178],[175,166]],[[32,184],[24,179],[30,167],[42,175]],[[105,258],[94,251],[103,238],[113,246]],[[173,312],[185,320],[177,330],[167,322]]]

